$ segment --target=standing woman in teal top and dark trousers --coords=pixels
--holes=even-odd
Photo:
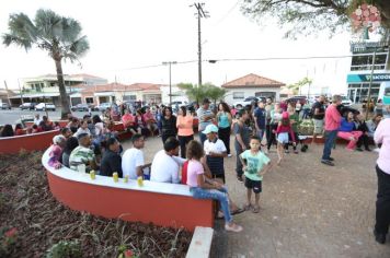
[[[218,138],[223,141],[228,156],[231,156],[230,130],[231,130],[232,117],[228,104],[223,102],[221,102],[218,105],[217,121],[218,121]]]

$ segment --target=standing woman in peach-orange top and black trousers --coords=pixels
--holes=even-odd
[[[187,113],[185,106],[181,106],[179,109],[179,116],[176,119],[177,138],[180,142],[181,156],[185,159],[185,149],[191,140],[194,140],[194,117]]]

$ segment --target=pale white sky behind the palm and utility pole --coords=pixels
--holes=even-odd
[[[90,50],[78,63],[64,63],[64,73],[88,73],[125,84],[146,82],[169,84],[197,83],[197,20],[195,7],[186,0],[13,0],[0,3],[0,34],[8,32],[11,13],[23,12],[31,19],[38,9],[78,20],[90,43]],[[259,25],[240,11],[241,1],[205,1],[210,17],[202,20],[203,60],[267,59],[313,56],[348,56],[351,33],[332,38],[326,33],[285,39],[284,31],[269,19]],[[190,61],[190,62],[188,62]],[[305,77],[313,87],[345,93],[351,58],[309,60],[260,60],[203,62],[203,82],[225,82],[255,73],[286,84]],[[157,66],[153,68],[142,68]],[[16,46],[0,44],[0,87],[3,81],[18,89],[23,78],[55,74],[54,61],[45,51],[26,52]]]

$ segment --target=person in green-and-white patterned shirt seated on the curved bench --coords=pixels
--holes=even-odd
[[[91,138],[88,133],[80,133],[77,137],[79,145],[70,153],[69,166],[70,169],[78,171],[78,166],[84,164],[85,172],[97,169],[95,154],[90,149]]]

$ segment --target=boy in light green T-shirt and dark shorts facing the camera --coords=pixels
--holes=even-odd
[[[260,192],[262,192],[263,175],[271,168],[269,159],[260,151],[261,141],[259,137],[252,137],[250,141],[250,150],[240,154],[240,160],[245,175],[245,187],[248,203],[245,210],[252,209],[253,213],[260,211]],[[254,192],[254,207],[252,206],[252,190]]]

